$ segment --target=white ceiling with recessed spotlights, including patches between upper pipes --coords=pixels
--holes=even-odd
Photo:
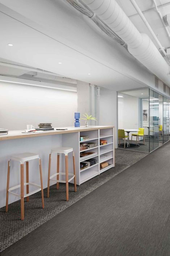
[[[117,1],[128,16],[136,13],[129,0]],[[136,2],[142,10],[153,7],[151,0]],[[0,10],[0,57],[7,62],[48,70],[112,90],[141,88],[153,82],[143,65],[65,0],[0,0]],[[147,12],[146,18],[163,46],[170,45],[157,13]],[[131,20],[140,32],[149,34],[138,15]],[[9,47],[8,43],[13,46]],[[20,76],[22,72],[27,73],[0,66],[0,74]]]

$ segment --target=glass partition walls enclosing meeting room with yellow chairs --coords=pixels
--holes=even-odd
[[[126,150],[157,149],[170,139],[169,113],[170,100],[152,89],[118,92],[118,147],[124,149],[125,140]]]

